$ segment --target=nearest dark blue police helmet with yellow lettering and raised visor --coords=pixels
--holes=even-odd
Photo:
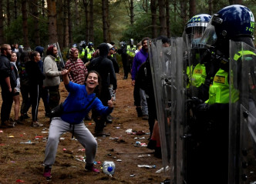
[[[249,37],[254,34],[254,15],[244,5],[230,5],[222,8],[211,18],[201,42],[213,45],[217,40]]]

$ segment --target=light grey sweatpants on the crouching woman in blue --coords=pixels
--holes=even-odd
[[[59,144],[59,137],[65,132],[72,132],[73,125],[70,126],[68,122],[64,122],[61,118],[52,118],[49,128],[48,141],[45,147],[44,166],[52,166],[56,159],[56,152]],[[93,134],[89,132],[83,122],[75,125],[74,136],[86,149],[86,163],[93,164],[97,142]]]

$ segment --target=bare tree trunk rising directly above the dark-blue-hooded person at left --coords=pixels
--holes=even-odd
[[[33,15],[33,21],[34,21],[34,30],[35,30],[35,45],[40,45],[40,30],[39,30],[39,10],[38,10],[38,4],[37,0],[32,0],[32,15]]]

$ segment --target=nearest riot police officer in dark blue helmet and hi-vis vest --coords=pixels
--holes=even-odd
[[[244,42],[253,47],[254,15],[243,5],[230,5],[222,8],[211,18],[200,43],[211,45],[211,55],[218,69],[209,89],[209,99],[197,105],[197,118],[204,116],[204,133],[197,147],[197,173],[200,181],[191,179],[188,183],[227,183],[228,175],[228,141],[229,141],[229,102],[231,59],[253,55],[252,52],[237,52],[230,55],[230,41]],[[233,58],[234,57],[234,58]],[[232,95],[239,99],[239,92]],[[206,116],[207,115],[207,116]],[[208,119],[205,119],[205,118]],[[234,161],[232,161],[234,162]],[[236,181],[236,180],[234,180]],[[237,182],[237,181],[236,181]],[[234,183],[234,182],[232,182]]]

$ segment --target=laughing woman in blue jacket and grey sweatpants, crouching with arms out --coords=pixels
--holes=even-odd
[[[94,168],[93,162],[96,156],[97,142],[93,134],[89,132],[83,119],[91,109],[95,109],[100,115],[109,115],[113,111],[113,102],[109,100],[107,105],[96,98],[94,89],[99,85],[99,73],[90,71],[86,76],[86,85],[79,85],[69,82],[69,70],[63,70],[63,82],[67,91],[68,97],[63,103],[63,114],[61,117],[52,118],[49,127],[48,142],[45,147],[45,170],[43,176],[51,178],[52,164],[56,159],[56,152],[59,144],[59,137],[64,132],[72,132],[76,139],[86,149],[86,170],[99,172]]]

